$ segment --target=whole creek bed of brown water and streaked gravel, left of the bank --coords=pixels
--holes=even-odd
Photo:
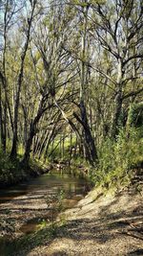
[[[22,240],[22,245],[25,245],[29,236],[42,232],[41,228],[47,224],[52,225],[59,212],[72,208],[92,188],[91,182],[81,176],[54,172],[1,190],[2,255],[14,255],[15,249],[7,251],[10,244],[16,243],[15,247]]]

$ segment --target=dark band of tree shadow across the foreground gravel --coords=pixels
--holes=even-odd
[[[143,241],[143,211],[142,207],[134,208],[131,212],[110,212],[111,204],[101,209],[100,218],[79,219],[67,221],[65,225],[51,225],[31,235],[22,236],[10,242],[9,238],[3,239],[1,256],[29,255],[37,246],[50,246],[56,239],[70,239],[74,242],[94,241],[96,244],[105,244],[120,238],[135,239],[140,244]],[[49,255],[49,254],[33,254]],[[51,255],[51,254],[50,254]],[[52,255],[68,255],[66,251],[59,250]],[[80,254],[79,254],[80,255]],[[96,255],[96,254],[94,254]],[[107,255],[107,254],[105,254]],[[119,254],[120,255],[120,254]],[[143,255],[143,247],[136,247],[125,255]],[[112,255],[113,256],[113,255]]]

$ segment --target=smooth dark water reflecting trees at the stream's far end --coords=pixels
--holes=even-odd
[[[37,194],[42,194],[43,191],[50,191],[50,194],[56,194],[58,191],[64,190],[70,198],[75,195],[84,196],[90,188],[91,184],[85,178],[69,174],[51,173],[36,177],[19,186],[0,190],[0,203],[33,191]]]

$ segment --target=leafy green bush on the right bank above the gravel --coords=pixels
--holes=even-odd
[[[121,129],[116,141],[107,139],[100,147],[98,167],[91,177],[96,185],[120,187],[130,183],[133,168],[143,161],[140,130],[131,128],[130,136]]]

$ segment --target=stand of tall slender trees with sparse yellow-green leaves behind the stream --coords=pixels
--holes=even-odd
[[[0,8],[3,151],[11,144],[13,159],[24,149],[28,165],[31,155],[62,149],[70,132],[96,164],[102,142],[141,101],[142,2],[7,0]]]

